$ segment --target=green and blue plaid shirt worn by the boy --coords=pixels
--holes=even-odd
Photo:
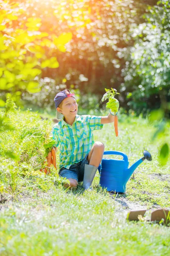
[[[102,129],[102,116],[76,116],[73,125],[63,119],[52,128],[52,136],[56,141],[55,147],[60,145],[59,168],[69,167],[78,163],[91,151],[94,144],[93,131]]]

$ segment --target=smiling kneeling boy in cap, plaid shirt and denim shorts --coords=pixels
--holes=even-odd
[[[54,147],[60,144],[59,175],[66,177],[70,184],[65,187],[77,187],[79,181],[88,189],[102,160],[104,145],[94,143],[93,130],[100,130],[103,124],[114,122],[114,113],[108,116],[77,115],[78,105],[74,93],[65,89],[54,98],[59,122],[52,128]],[[116,100],[117,110],[119,102]],[[116,113],[117,114],[117,113]]]

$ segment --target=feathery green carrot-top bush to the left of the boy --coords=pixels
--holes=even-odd
[[[8,111],[0,133],[0,193],[9,192],[16,196],[34,189],[47,191],[60,182],[57,171],[51,168],[51,175],[40,172],[44,163],[43,143],[51,132],[51,123],[42,120],[37,113],[16,110],[14,102],[7,101]],[[56,176],[56,177],[55,177]],[[54,181],[55,177],[55,181]]]

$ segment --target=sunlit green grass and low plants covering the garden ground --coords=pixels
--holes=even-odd
[[[71,192],[54,169],[51,175],[39,172],[50,119],[30,111],[10,112],[8,118],[14,130],[0,135],[0,255],[170,255],[169,227],[126,221],[132,206],[147,208],[148,215],[151,209],[170,207],[170,161],[161,166],[158,158],[164,138],[151,141],[156,128],[147,119],[122,115],[118,138],[113,124],[94,132],[105,150],[127,154],[130,166],[144,149],[152,154],[153,161],[145,160],[127,182],[126,194],[117,195],[128,205],[124,208],[116,195],[99,187],[98,173],[94,190],[79,186]],[[6,157],[6,150],[13,150],[18,160]]]

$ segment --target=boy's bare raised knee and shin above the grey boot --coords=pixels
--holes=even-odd
[[[103,152],[105,150],[105,146],[102,142],[96,141],[91,148],[91,151],[88,153],[88,163],[92,166],[98,167],[102,161]]]

